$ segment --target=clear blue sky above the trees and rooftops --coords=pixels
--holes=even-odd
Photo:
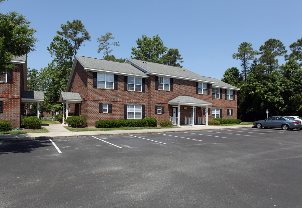
[[[143,34],[159,34],[168,48],[178,48],[182,66],[202,76],[221,79],[224,71],[237,67],[232,59],[242,42],[254,49],[270,38],[288,46],[302,37],[301,0],[288,1],[66,1],[8,0],[0,12],[17,11],[31,21],[40,42],[28,54],[27,67],[40,70],[52,61],[50,45],[61,24],[79,19],[91,36],[78,55],[102,58],[97,53],[97,38],[111,32],[120,46],[112,46],[116,58],[130,57],[131,47]],[[285,63],[279,57],[279,64]]]

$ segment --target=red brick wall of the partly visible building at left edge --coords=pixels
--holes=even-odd
[[[21,121],[21,89],[23,86],[20,83],[23,64],[15,64],[12,72],[12,84],[0,82],[0,101],[3,101],[3,113],[0,113],[0,121],[10,121],[12,128],[15,128],[20,127]]]

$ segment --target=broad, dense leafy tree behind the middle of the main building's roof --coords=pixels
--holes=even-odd
[[[158,34],[153,36],[152,39],[143,35],[143,38],[138,38],[136,43],[138,45],[137,48],[131,48],[131,54],[134,55],[134,57],[131,56],[131,58],[154,63],[163,63],[163,61],[159,59],[159,56],[164,54],[168,48],[164,46]]]

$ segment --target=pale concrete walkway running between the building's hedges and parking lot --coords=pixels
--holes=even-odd
[[[33,140],[33,139],[53,139],[53,138],[72,138],[86,136],[108,136],[108,135],[128,135],[128,134],[153,134],[169,132],[191,132],[203,130],[219,130],[234,128],[252,128],[253,125],[234,125],[234,126],[205,126],[205,125],[182,125],[181,128],[161,128],[161,129],[133,129],[115,131],[91,131],[91,132],[70,132],[62,124],[42,125],[48,133],[26,133],[26,134],[1,134],[0,141]]]

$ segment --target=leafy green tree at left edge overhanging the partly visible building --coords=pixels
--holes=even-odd
[[[0,73],[11,70],[7,64],[14,57],[34,51],[37,32],[29,28],[31,22],[18,12],[0,13]]]

